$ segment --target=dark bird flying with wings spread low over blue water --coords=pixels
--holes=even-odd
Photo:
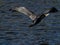
[[[32,20],[32,24],[30,24],[29,27],[37,25],[39,22],[41,22],[42,19],[47,17],[50,13],[58,12],[58,10],[55,7],[51,7],[49,10],[46,10],[44,13],[39,15],[36,15],[34,12],[30,11],[26,7],[15,7],[13,9],[9,9],[9,11],[20,12],[28,16]]]

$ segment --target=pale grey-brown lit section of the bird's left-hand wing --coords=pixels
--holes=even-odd
[[[36,19],[36,15],[34,13],[32,13],[30,10],[28,10],[27,8],[25,8],[25,7],[16,7],[14,10],[27,15],[32,20]]]

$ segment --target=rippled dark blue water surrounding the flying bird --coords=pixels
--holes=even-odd
[[[60,10],[60,0],[0,0],[0,45],[60,45],[60,12],[29,28],[32,22],[27,16],[9,11],[16,6],[40,14],[51,7]]]

